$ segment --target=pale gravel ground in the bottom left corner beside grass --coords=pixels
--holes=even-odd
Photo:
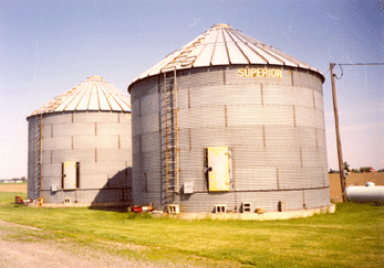
[[[0,267],[169,267],[169,264],[133,260],[74,243],[37,238],[33,234],[44,235],[44,231],[0,219]]]

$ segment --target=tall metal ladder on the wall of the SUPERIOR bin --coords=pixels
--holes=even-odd
[[[179,148],[177,77],[174,72],[164,72],[160,92],[160,139],[162,139],[162,204],[168,205],[179,193]]]

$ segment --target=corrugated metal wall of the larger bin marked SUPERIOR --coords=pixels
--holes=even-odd
[[[329,205],[321,78],[293,68],[282,68],[282,78],[239,77],[238,67],[177,73],[180,185],[193,181],[195,193],[175,194],[174,202],[181,212],[210,212],[215,204],[233,211],[241,202],[268,211],[279,201],[288,210]],[[162,75],[131,90],[134,202],[157,208],[166,205],[160,200],[163,92]],[[205,149],[218,146],[232,152],[229,193],[207,191]]]

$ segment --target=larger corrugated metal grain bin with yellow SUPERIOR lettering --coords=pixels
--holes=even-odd
[[[135,204],[180,212],[330,205],[324,76],[227,24],[129,85]]]

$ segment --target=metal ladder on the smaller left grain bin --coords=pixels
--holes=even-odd
[[[41,197],[42,114],[34,121],[33,199]]]

